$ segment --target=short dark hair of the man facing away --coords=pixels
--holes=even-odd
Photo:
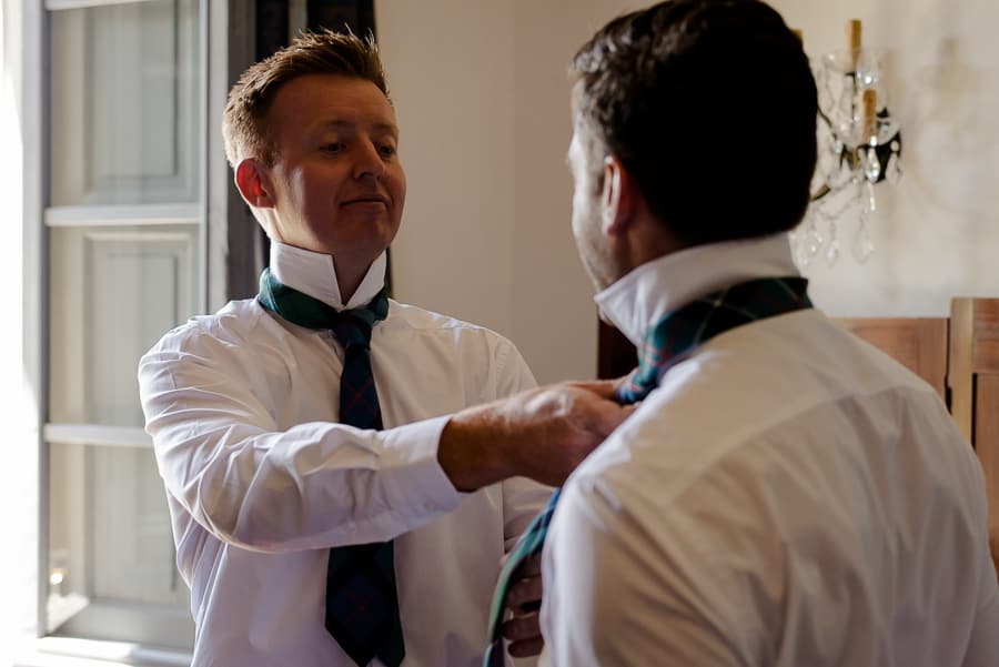
[[[765,236],[804,216],[815,79],[800,40],[767,4],[659,2],[610,21],[572,70],[576,122],[682,243]]]

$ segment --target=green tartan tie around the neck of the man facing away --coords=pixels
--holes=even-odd
[[[807,287],[808,281],[798,276],[751,280],[667,313],[649,330],[639,347],[638,367],[617,387],[618,403],[629,404],[645,398],[658,385],[666,370],[720,333],[757,320],[810,309]],[[504,665],[502,621],[506,597],[516,580],[517,568],[544,548],[559,492],[555,489],[548,504],[534,517],[503,564],[490,608],[490,644],[483,659],[484,667]]]

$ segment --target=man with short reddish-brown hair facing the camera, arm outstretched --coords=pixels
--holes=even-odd
[[[467,667],[542,484],[625,412],[601,383],[496,401],[534,385],[508,341],[387,299],[406,189],[372,41],[253,65],[223,132],[270,267],[139,367],[193,665]]]

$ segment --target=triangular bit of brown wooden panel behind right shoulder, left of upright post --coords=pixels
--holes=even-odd
[[[919,375],[947,401],[946,317],[859,317],[837,322]]]

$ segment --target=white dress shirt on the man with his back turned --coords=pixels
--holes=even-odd
[[[639,341],[786,236],[645,264],[597,296]],[[815,310],[667,371],[571,476],[543,556],[555,667],[986,667],[982,473],[936,392]]]

